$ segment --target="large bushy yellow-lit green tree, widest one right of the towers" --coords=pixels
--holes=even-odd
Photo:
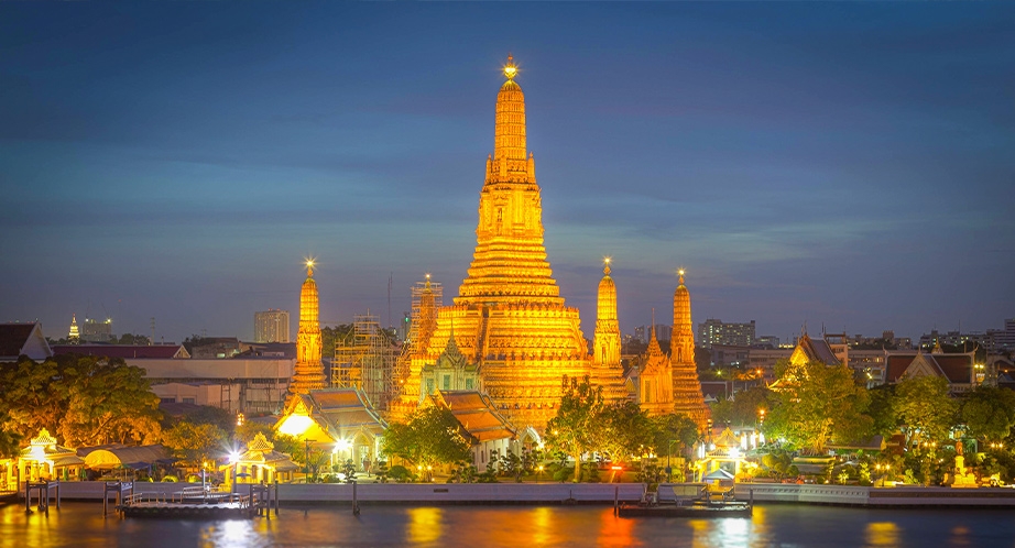
[[[821,452],[832,439],[852,441],[870,435],[864,415],[870,396],[845,364],[812,361],[783,370],[770,397],[766,428],[794,447]]]

